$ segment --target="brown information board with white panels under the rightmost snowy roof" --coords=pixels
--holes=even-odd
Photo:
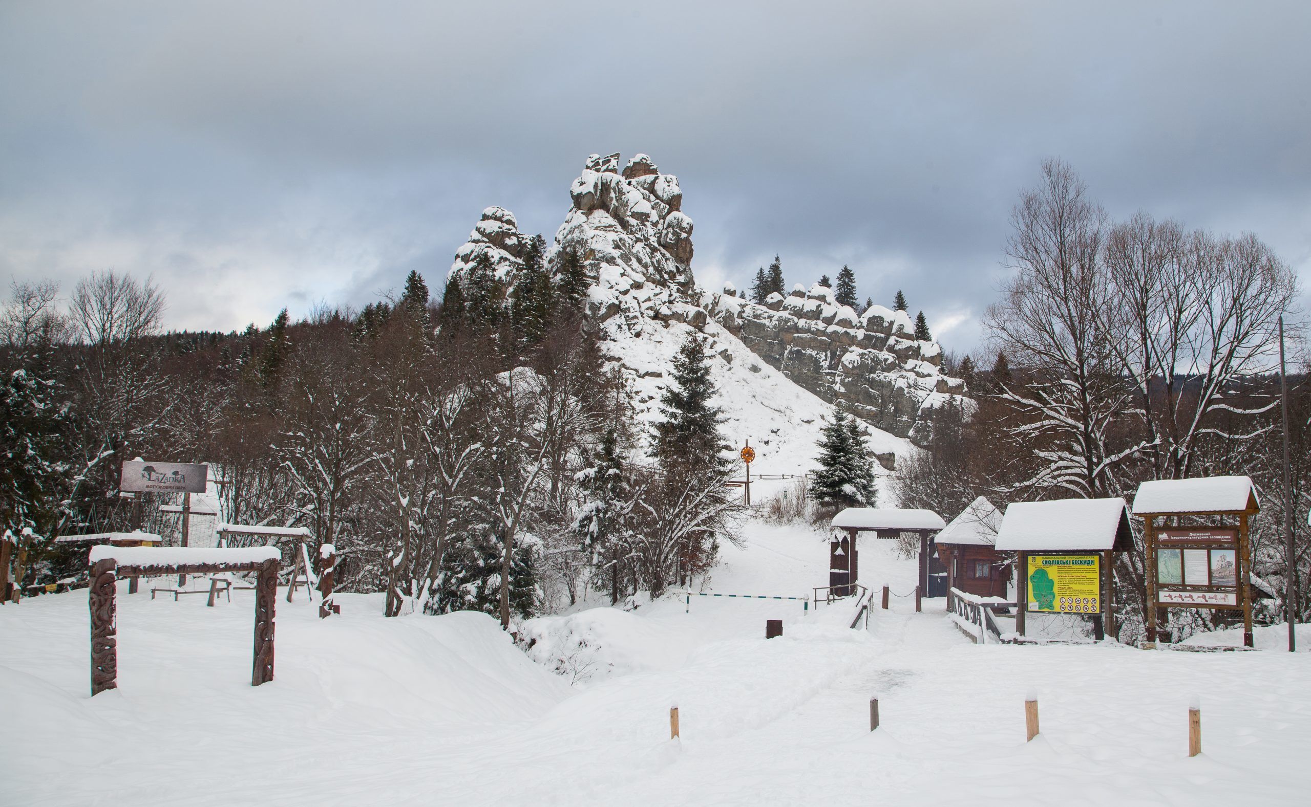
[[[1164,528],[1155,537],[1158,608],[1239,607],[1238,529]]]

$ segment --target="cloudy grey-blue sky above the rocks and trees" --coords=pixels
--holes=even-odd
[[[484,207],[549,240],[617,151],[704,284],[848,263],[948,348],[1049,156],[1311,287],[1311,3],[612,5],[0,0],[0,279],[153,275],[178,329],[439,293]]]

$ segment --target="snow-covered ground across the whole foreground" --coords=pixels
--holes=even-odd
[[[746,535],[707,591],[825,583],[823,536]],[[860,571],[871,587],[914,584],[890,542],[863,540]],[[979,647],[941,600],[915,614],[894,599],[864,631],[846,628],[847,605],[802,616],[793,601],[692,597],[687,613],[673,595],[534,620],[524,654],[481,614],[384,620],[380,596],[346,595],[326,621],[279,597],[277,677],[252,688],[253,592],[216,608],[121,592],[119,689],[96,698],[85,591],[0,607],[0,804],[1311,800],[1304,654]],[[784,620],[783,638],[763,638],[766,618]]]

